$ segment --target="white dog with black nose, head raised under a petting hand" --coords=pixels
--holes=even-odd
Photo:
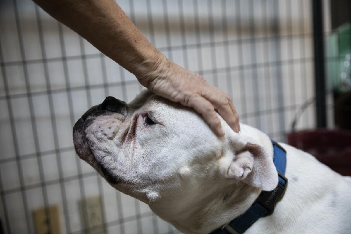
[[[108,97],[73,128],[79,157],[184,233],[211,233],[278,184],[270,138],[221,119],[218,138],[192,109],[142,91]],[[245,233],[351,233],[351,179],[286,144],[285,194]],[[350,155],[351,156],[351,155]],[[227,226],[227,233],[236,233]]]

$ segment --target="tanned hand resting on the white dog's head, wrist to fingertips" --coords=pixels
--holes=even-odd
[[[163,57],[154,71],[137,78],[153,93],[193,108],[203,116],[216,135],[225,134],[216,111],[235,132],[240,131],[239,116],[229,95],[209,85],[201,75]]]

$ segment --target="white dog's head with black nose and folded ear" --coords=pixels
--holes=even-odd
[[[146,90],[131,103],[107,97],[73,128],[79,157],[114,188],[141,201],[181,202],[218,185],[272,190],[272,155],[233,132],[218,138],[196,112]]]

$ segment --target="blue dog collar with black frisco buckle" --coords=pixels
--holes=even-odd
[[[252,206],[242,215],[224,225],[222,228],[216,229],[211,234],[242,234],[254,222],[264,215],[270,214],[274,210],[277,198],[283,196],[287,179],[284,176],[286,169],[286,151],[277,142],[273,144],[273,163],[278,172],[278,186],[272,191],[262,191]]]

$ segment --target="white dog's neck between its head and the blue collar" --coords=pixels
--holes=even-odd
[[[241,125],[241,132],[267,147],[273,157],[271,140],[266,134],[246,125]],[[225,184],[219,181],[197,186],[201,189],[191,189],[191,194],[184,194],[176,204],[156,202],[150,207],[181,232],[209,233],[243,214],[261,192],[243,182]]]

